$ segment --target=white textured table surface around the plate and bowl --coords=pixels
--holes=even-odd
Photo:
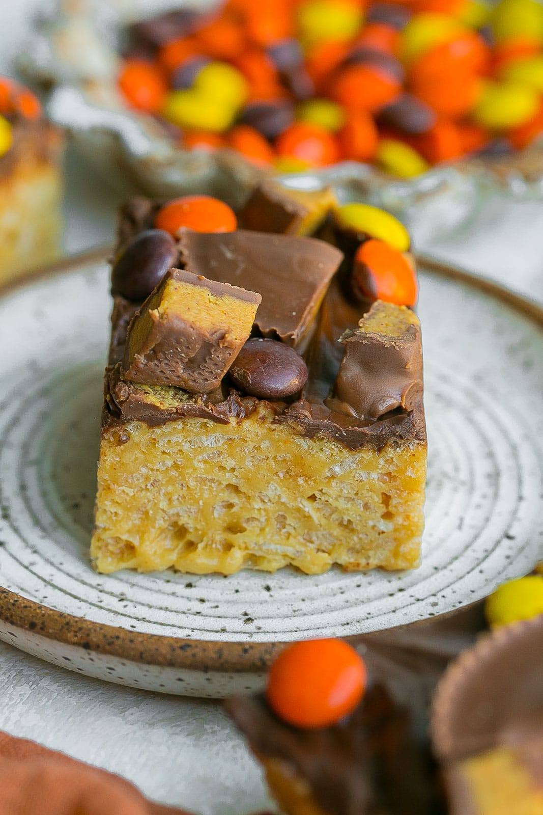
[[[0,0],[0,71],[13,73],[43,0]],[[68,150],[68,253],[112,241],[120,195]],[[419,246],[543,302],[543,203],[497,199],[462,236]],[[204,815],[270,808],[260,769],[218,703],[87,679],[0,643],[0,729],[120,773]]]

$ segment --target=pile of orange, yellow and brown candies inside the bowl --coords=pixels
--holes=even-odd
[[[129,48],[119,86],[185,148],[227,146],[287,172],[371,161],[410,178],[541,133],[543,5],[228,0],[180,17],[152,53]]]

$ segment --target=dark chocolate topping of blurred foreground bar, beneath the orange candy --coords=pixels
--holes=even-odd
[[[237,696],[226,710],[257,757],[280,760],[308,786],[326,815],[430,815],[440,809],[427,748],[410,734],[409,713],[374,685],[339,725],[285,724],[264,696]]]

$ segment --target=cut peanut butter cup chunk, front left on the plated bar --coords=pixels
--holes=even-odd
[[[249,304],[245,337],[237,338],[222,312],[217,323],[200,325],[187,302],[165,303],[170,284],[188,284],[205,289],[212,297],[229,297]],[[260,294],[205,280],[190,271],[170,269],[160,286],[148,297],[128,329],[125,348],[125,378],[144,385],[176,385],[191,394],[207,394],[221,385],[230,364],[251,330],[252,316],[261,302]],[[213,312],[210,311],[213,315]],[[236,328],[238,328],[236,326]]]

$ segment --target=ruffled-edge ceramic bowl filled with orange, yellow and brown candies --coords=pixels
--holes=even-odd
[[[340,181],[449,229],[488,190],[543,192],[537,0],[172,5],[60,0],[21,59],[110,178],[234,204],[269,174]]]

